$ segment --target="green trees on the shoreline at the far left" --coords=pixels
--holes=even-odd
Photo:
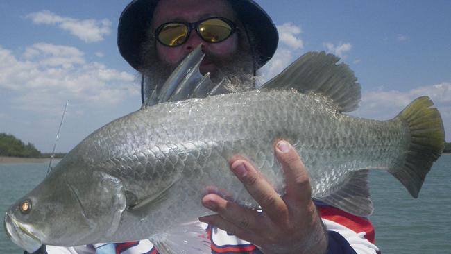
[[[24,144],[13,135],[0,133],[0,156],[39,158],[41,152],[31,143]]]

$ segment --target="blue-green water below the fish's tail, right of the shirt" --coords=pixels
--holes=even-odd
[[[451,253],[451,155],[442,155],[417,199],[386,172],[370,178],[370,217],[382,253]]]

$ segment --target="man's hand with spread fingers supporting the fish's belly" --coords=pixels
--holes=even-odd
[[[202,203],[217,214],[199,220],[259,246],[264,253],[325,253],[327,234],[312,201],[303,162],[283,140],[276,144],[275,155],[282,164],[287,185],[283,197],[250,162],[235,158],[230,167],[262,207],[262,212],[244,208],[217,194],[207,194]]]

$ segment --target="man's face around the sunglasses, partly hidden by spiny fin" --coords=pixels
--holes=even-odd
[[[153,15],[153,31],[158,26],[167,22],[197,22],[207,17],[225,17],[236,22],[232,8],[224,0],[162,0],[155,8]],[[218,62],[230,60],[238,48],[237,33],[233,33],[228,39],[219,43],[209,43],[192,31],[188,40],[176,47],[169,47],[156,43],[156,51],[159,60],[164,65],[176,67],[199,44],[202,44],[203,52],[207,55],[201,62],[201,73],[210,72],[215,75]]]

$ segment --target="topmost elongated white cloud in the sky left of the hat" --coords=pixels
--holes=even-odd
[[[61,17],[49,10],[33,12],[26,15],[35,24],[48,24],[58,26],[62,30],[69,31],[72,35],[84,42],[99,42],[105,35],[111,33],[111,22],[108,19],[74,19]]]

